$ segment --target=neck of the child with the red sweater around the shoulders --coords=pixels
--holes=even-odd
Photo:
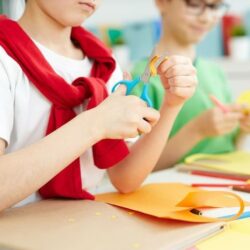
[[[84,57],[71,41],[72,28],[60,25],[35,4],[26,7],[18,23],[32,39],[50,50],[73,59]]]

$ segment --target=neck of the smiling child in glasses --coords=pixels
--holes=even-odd
[[[196,57],[195,45],[183,43],[170,34],[163,33],[157,46],[157,52],[160,54],[169,53],[170,55],[182,55],[191,58]]]

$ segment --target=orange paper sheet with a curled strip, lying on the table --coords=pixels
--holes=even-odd
[[[180,183],[148,184],[130,194],[100,194],[96,200],[159,218],[190,222],[219,220],[193,214],[193,208],[238,206],[238,215],[244,209],[241,198],[231,192],[206,191]]]

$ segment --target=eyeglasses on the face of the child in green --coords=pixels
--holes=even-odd
[[[224,2],[211,4],[207,3],[205,0],[184,0],[184,2],[187,5],[188,14],[195,16],[202,15],[206,9],[209,8],[215,16],[222,17],[230,8],[229,4]]]

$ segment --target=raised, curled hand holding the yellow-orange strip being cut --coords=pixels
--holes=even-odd
[[[194,94],[198,80],[189,58],[171,56],[161,63],[157,72],[166,90],[165,101],[168,105],[183,105]]]

